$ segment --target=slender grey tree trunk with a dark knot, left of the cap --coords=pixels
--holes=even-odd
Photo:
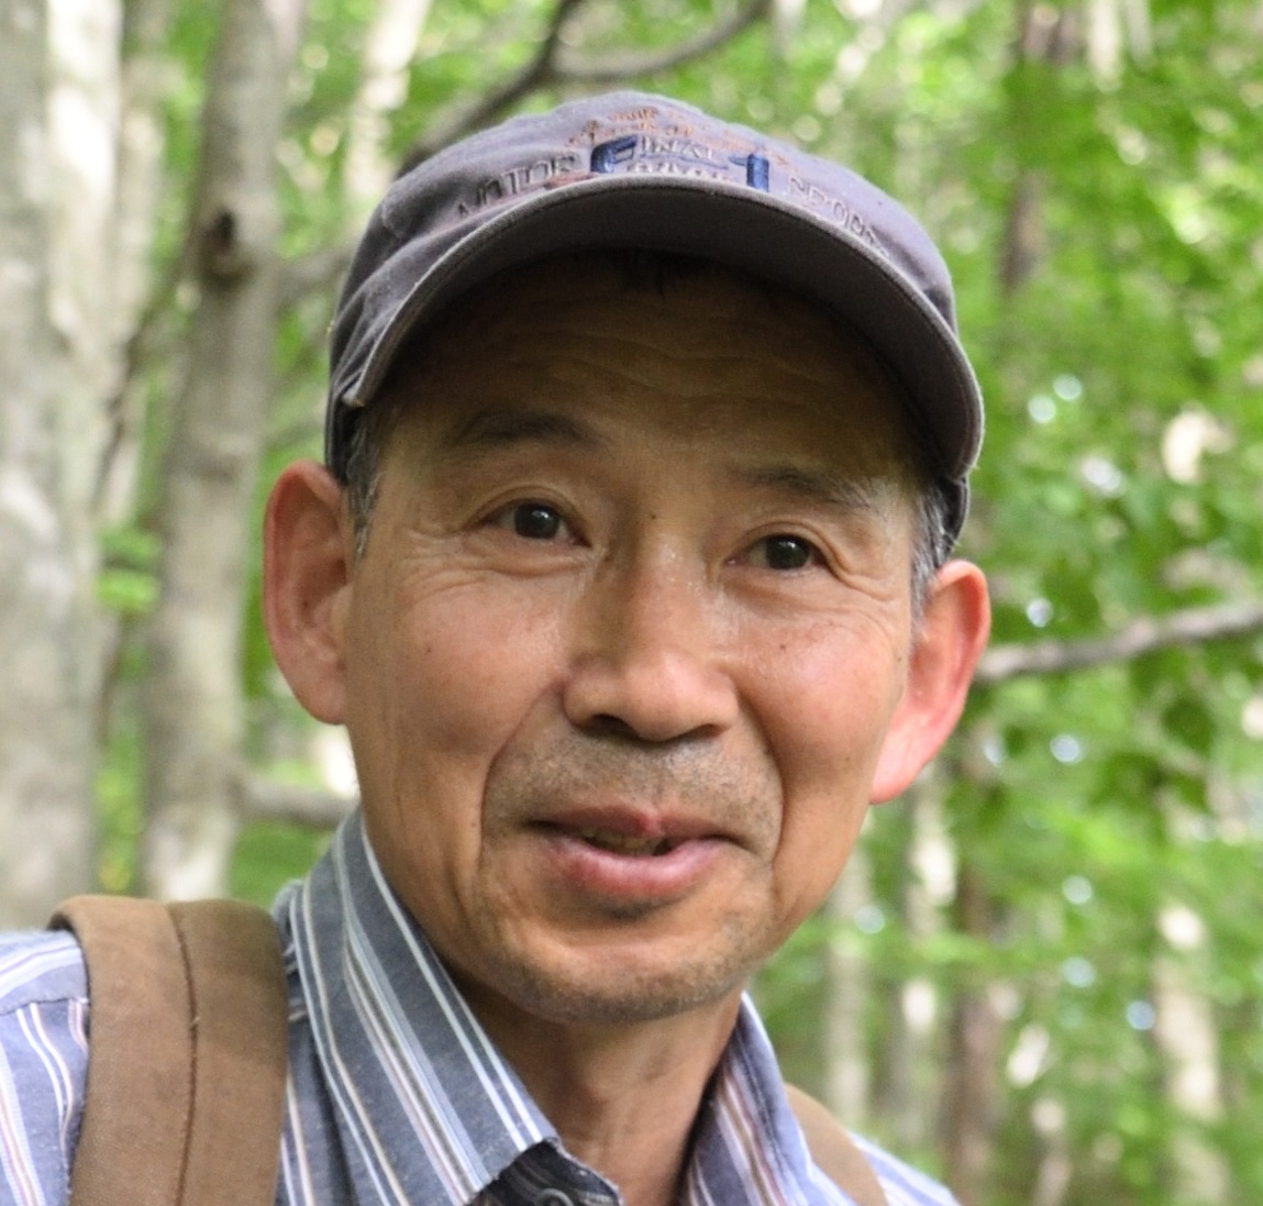
[[[162,506],[145,698],[145,889],[222,894],[244,791],[246,516],[273,393],[274,158],[302,0],[230,0],[191,225],[198,307]]]

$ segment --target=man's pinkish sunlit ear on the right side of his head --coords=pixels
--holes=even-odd
[[[967,561],[935,576],[873,780],[873,802],[906,791],[960,720],[978,659],[991,630],[986,578]]]

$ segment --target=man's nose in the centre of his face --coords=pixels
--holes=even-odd
[[[736,720],[722,607],[702,578],[669,556],[597,575],[573,634],[571,724],[666,743],[717,736]]]

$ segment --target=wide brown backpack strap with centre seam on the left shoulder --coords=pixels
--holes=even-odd
[[[288,994],[268,913],[75,897],[51,924],[91,994],[71,1206],[272,1206]]]

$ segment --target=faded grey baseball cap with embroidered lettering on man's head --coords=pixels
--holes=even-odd
[[[613,92],[475,134],[400,177],[378,206],[333,319],[325,455],[407,338],[470,287],[557,251],[652,248],[816,298],[902,383],[965,520],[983,399],[951,278],[914,218],[847,168],[679,101]]]

